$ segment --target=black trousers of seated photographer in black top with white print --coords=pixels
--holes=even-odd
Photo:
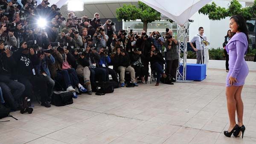
[[[44,76],[20,77],[18,78],[18,82],[25,85],[24,96],[33,98],[33,90],[37,91],[41,96],[41,102],[47,101],[48,93],[50,93],[49,90],[52,90],[47,87],[47,79]]]

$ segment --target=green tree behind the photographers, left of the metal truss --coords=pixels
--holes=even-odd
[[[116,18],[121,21],[140,19],[143,22],[143,30],[147,31],[148,23],[160,20],[160,13],[145,3],[138,2],[138,8],[134,5],[125,5],[116,9]]]

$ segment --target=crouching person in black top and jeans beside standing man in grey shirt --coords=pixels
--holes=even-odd
[[[161,75],[166,78],[166,74],[163,72],[163,64],[165,63],[162,54],[156,51],[155,45],[151,45],[151,51],[148,55],[148,60],[150,62],[151,71],[157,72],[157,83],[155,86],[159,85]]]

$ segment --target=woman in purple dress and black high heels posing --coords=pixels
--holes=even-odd
[[[229,54],[229,69],[226,79],[227,110],[230,126],[224,135],[230,137],[244,136],[243,125],[244,105],[241,99],[241,92],[249,69],[244,59],[248,49],[248,30],[244,17],[236,15],[230,18],[230,30],[236,33],[227,43],[226,51]],[[236,124],[237,113],[237,124]]]

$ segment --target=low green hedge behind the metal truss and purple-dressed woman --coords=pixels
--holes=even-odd
[[[225,54],[224,54],[224,49],[223,48],[211,48],[208,50],[209,51],[209,59],[213,59],[213,60],[225,60]],[[256,54],[256,49],[250,49],[246,56],[244,57],[246,61],[253,61],[253,58]],[[181,57],[183,56],[183,54],[181,54]],[[188,55],[187,55],[188,59],[196,59],[196,53],[195,51],[188,51]]]

